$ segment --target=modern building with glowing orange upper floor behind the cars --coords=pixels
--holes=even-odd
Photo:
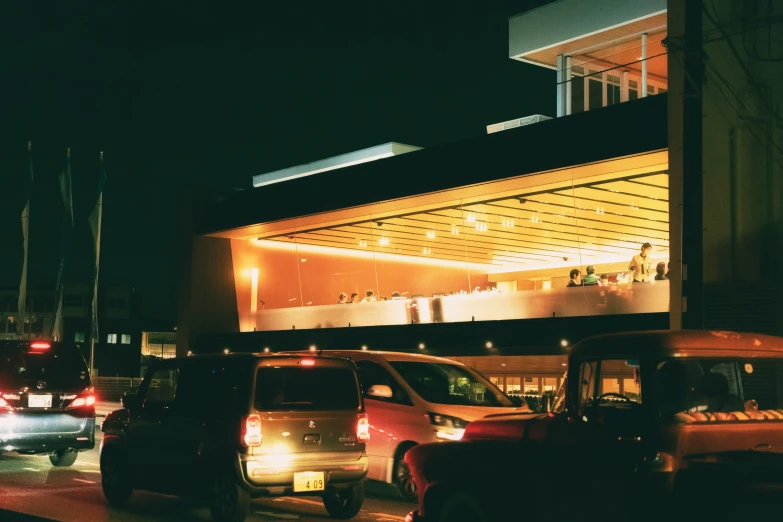
[[[509,20],[509,57],[557,71],[555,117],[191,197],[177,349],[553,357],[484,369],[543,392],[596,333],[780,333],[780,90],[761,51],[729,45],[775,42],[779,7],[553,2]],[[761,87],[735,97],[748,74]]]

